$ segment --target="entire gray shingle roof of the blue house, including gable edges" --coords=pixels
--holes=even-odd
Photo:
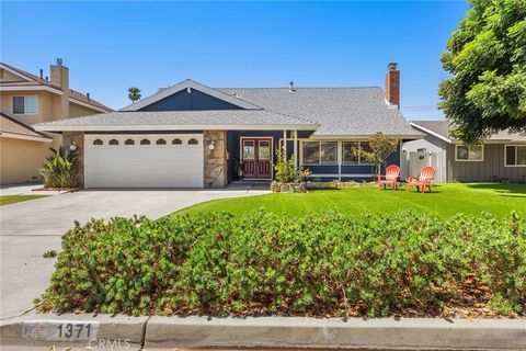
[[[398,109],[389,107],[381,88],[209,88],[192,80],[185,80],[170,88],[181,87],[204,89],[211,94],[224,95],[243,102],[253,110],[221,111],[173,111],[140,112],[139,105],[127,106],[121,112],[70,118],[37,125],[41,131],[52,131],[59,126],[148,126],[159,125],[302,125],[311,127],[318,137],[367,137],[381,132],[387,135],[419,137],[418,132],[405,121]],[[183,89],[181,88],[181,89]],[[168,90],[156,93],[150,99],[157,101]],[[261,110],[260,110],[261,109]],[[124,110],[129,110],[124,112]],[[299,129],[299,128],[298,128]]]

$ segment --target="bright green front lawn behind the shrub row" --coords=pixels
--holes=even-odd
[[[344,214],[386,213],[400,208],[448,217],[457,213],[480,214],[482,211],[503,216],[517,210],[526,213],[526,184],[448,183],[433,188],[432,193],[415,190],[378,190],[351,188],[313,190],[307,194],[267,194],[261,196],[215,200],[174,214],[226,211],[239,216],[247,211],[264,207],[274,213],[300,216],[329,207]]]

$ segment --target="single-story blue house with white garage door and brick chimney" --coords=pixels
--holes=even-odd
[[[85,188],[209,188],[272,179],[276,148],[312,178],[363,180],[373,167],[354,156],[378,132],[422,136],[399,111],[400,71],[381,88],[218,88],[192,80],[160,89],[118,112],[43,123],[82,154]],[[70,140],[70,141],[69,141]],[[400,152],[389,158],[400,163]]]

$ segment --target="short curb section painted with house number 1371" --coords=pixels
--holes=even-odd
[[[89,347],[139,350],[148,317],[37,314],[0,321],[3,347]],[[103,348],[101,348],[101,342]]]

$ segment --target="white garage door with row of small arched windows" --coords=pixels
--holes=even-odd
[[[85,188],[203,188],[202,134],[84,136]]]

